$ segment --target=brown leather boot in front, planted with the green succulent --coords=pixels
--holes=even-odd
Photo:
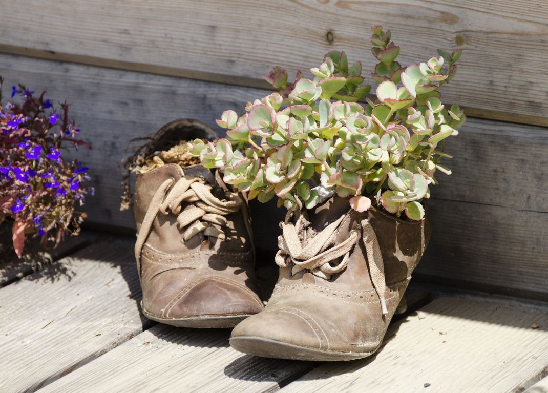
[[[293,217],[292,217],[293,216]],[[352,360],[379,349],[430,237],[428,220],[407,221],[335,197],[289,213],[278,238],[278,283],[265,309],[232,331],[247,354]]]

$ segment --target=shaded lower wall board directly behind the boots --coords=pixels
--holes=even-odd
[[[118,210],[117,165],[130,139],[150,135],[175,117],[214,126],[222,110],[240,111],[244,102],[266,94],[11,55],[0,55],[0,74],[6,86],[24,81],[38,91],[48,88],[55,100],[72,102],[82,137],[94,144],[92,151],[78,152],[97,190],[87,200],[88,220],[110,227],[133,227],[131,214]],[[435,231],[417,272],[489,291],[519,290],[527,297],[548,292],[548,198],[540,197],[548,181],[548,133],[541,127],[470,118],[448,151],[455,155],[447,162],[453,174],[440,175],[441,184],[432,187]],[[284,210],[274,206],[252,204],[258,248],[277,247]]]

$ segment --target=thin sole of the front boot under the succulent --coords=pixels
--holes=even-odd
[[[373,355],[380,344],[367,352],[338,352],[307,348],[294,344],[283,343],[264,337],[241,336],[230,339],[230,346],[244,354],[272,357],[288,360],[307,360],[315,362],[330,362],[341,360],[356,360]]]

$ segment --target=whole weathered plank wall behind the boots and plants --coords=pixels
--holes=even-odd
[[[373,65],[369,27],[383,24],[402,61],[464,48],[444,88],[471,116],[450,141],[453,175],[433,187],[434,234],[417,275],[439,283],[548,298],[548,6],[533,0],[0,0],[0,75],[72,102],[92,151],[89,221],[133,227],[119,212],[130,139],[177,117],[214,126],[267,94],[270,65],[316,66],[328,50]],[[31,10],[30,15],[28,10]],[[331,34],[328,38],[328,32]],[[473,116],[473,117],[472,117]],[[273,248],[281,210],[256,208],[258,246]],[[264,228],[270,228],[264,231]],[[256,231],[258,232],[258,231]]]

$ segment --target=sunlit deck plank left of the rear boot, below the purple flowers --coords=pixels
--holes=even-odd
[[[0,391],[35,391],[150,326],[133,242],[102,241],[0,291]]]

